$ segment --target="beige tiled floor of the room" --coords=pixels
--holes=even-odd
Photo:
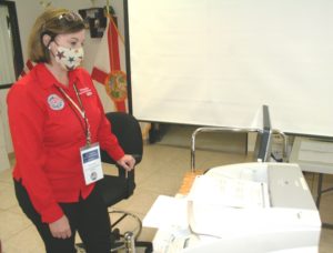
[[[189,145],[190,146],[190,145]],[[144,217],[154,200],[160,194],[173,196],[178,193],[185,172],[190,170],[190,149],[170,144],[144,144],[144,158],[137,166],[137,190],[134,195],[119,203],[114,209],[127,210]],[[198,150],[196,168],[208,169],[215,165],[250,161],[242,152],[221,152]],[[107,168],[105,170],[111,170]],[[315,194],[315,174],[306,174],[309,186]],[[325,176],[324,184],[333,182],[333,176]],[[322,198],[321,216],[333,223],[333,193]],[[151,241],[155,230],[143,229],[140,240]],[[42,253],[43,244],[30,221],[18,206],[11,170],[0,172],[0,240],[3,253]],[[320,252],[333,252],[333,230],[322,230]]]

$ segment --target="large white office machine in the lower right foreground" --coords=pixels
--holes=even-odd
[[[213,168],[195,179],[186,202],[188,230],[168,243],[159,230],[155,252],[317,252],[320,214],[296,164]]]

